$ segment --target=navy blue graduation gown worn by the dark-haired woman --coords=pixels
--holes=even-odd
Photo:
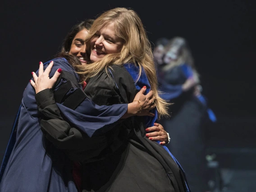
[[[45,64],[45,68],[47,64]],[[78,82],[78,75],[73,72],[73,67],[65,59],[54,59],[50,77],[53,76],[58,68],[70,73]],[[59,102],[62,104],[65,104],[64,101],[68,100],[69,96],[72,97],[73,93],[78,93],[82,87],[78,83],[69,83],[68,89],[62,89],[65,87],[62,85],[67,82],[70,81],[61,78],[55,90],[52,91],[57,95],[56,100],[60,100]],[[60,91],[57,91],[58,89]],[[58,97],[58,92],[65,94]],[[49,97],[51,96],[49,95]],[[84,109],[86,117],[83,120],[87,121],[87,126],[91,128],[110,125],[118,121],[127,110],[127,104],[98,106],[88,101],[87,98],[83,98],[83,100],[81,97],[79,98],[81,100],[77,100],[75,104],[68,100],[69,102],[66,105],[76,108],[81,101],[84,101],[87,108]],[[42,105],[49,104],[47,99],[45,101],[42,102]],[[93,110],[93,113],[91,113],[91,110]],[[51,112],[56,113],[56,111]],[[35,91],[28,83],[23,93],[22,103],[1,165],[0,192],[77,192],[72,177],[73,162],[67,157],[65,150],[59,150],[59,148],[66,148],[67,146],[58,146],[59,148],[56,148],[52,142],[44,137],[40,128],[40,116],[35,99]],[[64,133],[64,137],[68,137],[69,135],[67,134]],[[80,136],[88,137],[85,133],[80,134],[78,138]],[[57,139],[61,140],[61,138]],[[92,147],[92,151],[95,146],[100,148],[101,137],[97,141],[99,143],[92,141],[93,145],[87,148]]]

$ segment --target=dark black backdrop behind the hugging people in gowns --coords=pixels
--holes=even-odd
[[[141,16],[152,45],[159,37],[187,39],[218,119],[207,130],[210,153],[218,154],[223,168],[256,169],[254,0],[2,2],[0,160],[31,72],[53,58],[74,24],[115,7]]]

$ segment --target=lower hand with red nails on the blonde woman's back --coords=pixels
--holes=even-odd
[[[165,145],[169,142],[168,134],[164,127],[159,123],[154,123],[153,127],[146,128],[146,137],[151,141],[160,141],[160,145]]]

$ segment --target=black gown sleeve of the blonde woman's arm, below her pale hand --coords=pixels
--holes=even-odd
[[[36,101],[41,114],[41,130],[46,138],[57,148],[66,152],[71,160],[84,161],[95,157],[107,146],[107,137],[88,135],[66,122],[55,104],[52,89],[36,94]]]

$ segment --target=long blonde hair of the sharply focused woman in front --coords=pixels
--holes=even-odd
[[[156,69],[153,61],[151,44],[146,35],[142,21],[134,10],[126,8],[110,9],[96,18],[86,39],[87,55],[91,54],[91,38],[94,37],[99,29],[110,23],[114,23],[115,34],[123,40],[123,46],[120,52],[107,54],[101,60],[92,62],[91,64],[79,65],[77,66],[77,72],[84,74],[84,77],[86,78],[91,78],[103,69],[107,70],[107,67],[110,64],[122,65],[125,63],[133,63],[140,69],[139,77],[142,73],[142,68],[145,70],[151,85],[151,90],[154,91],[156,98],[155,105],[159,117],[163,115],[169,116],[169,103],[160,98],[158,94]]]

